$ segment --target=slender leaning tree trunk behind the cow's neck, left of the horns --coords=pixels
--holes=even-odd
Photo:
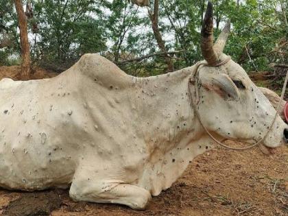
[[[159,31],[158,28],[158,17],[159,17],[159,0],[155,0],[154,1],[154,13],[152,14],[152,12],[149,12],[149,18],[152,22],[152,29],[154,32],[154,36],[156,38],[158,47],[161,49],[161,51],[163,51],[163,53],[167,53],[167,49],[165,47],[165,41],[163,40],[161,33]],[[174,71],[174,65],[173,62],[171,60],[171,58],[169,58],[168,55],[165,56],[165,61],[167,62],[167,70],[168,72]]]

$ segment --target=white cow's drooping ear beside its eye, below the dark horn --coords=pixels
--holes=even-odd
[[[204,81],[204,82],[203,82]],[[239,91],[237,86],[232,82],[226,74],[207,74],[202,80],[204,88],[215,91],[218,95],[224,98],[239,99]]]

